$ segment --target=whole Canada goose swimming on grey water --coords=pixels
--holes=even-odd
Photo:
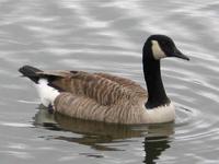
[[[165,35],[151,35],[142,49],[148,92],[136,82],[107,73],[19,69],[36,84],[42,104],[60,114],[115,124],[174,121],[175,108],[163,87],[160,59],[189,60]]]

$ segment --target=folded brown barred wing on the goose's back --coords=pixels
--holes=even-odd
[[[55,77],[53,86],[73,95],[94,99],[100,105],[113,105],[120,98],[146,96],[139,84],[125,78],[83,71],[45,71],[42,77]]]

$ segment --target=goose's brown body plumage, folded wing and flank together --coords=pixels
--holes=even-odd
[[[147,92],[136,82],[106,73],[82,71],[38,72],[54,77],[50,85],[61,90],[55,110],[67,116],[119,124],[142,120]]]

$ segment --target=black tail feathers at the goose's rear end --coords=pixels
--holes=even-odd
[[[34,81],[35,83],[38,82],[39,75],[37,72],[43,72],[42,70],[31,67],[31,66],[23,66],[19,69],[19,71],[24,75]]]

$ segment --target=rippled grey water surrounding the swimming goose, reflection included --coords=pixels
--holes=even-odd
[[[0,0],[0,163],[218,163],[218,8],[215,0]],[[154,33],[192,59],[162,61],[175,124],[50,115],[18,72],[23,65],[103,71],[145,85],[141,48]]]

